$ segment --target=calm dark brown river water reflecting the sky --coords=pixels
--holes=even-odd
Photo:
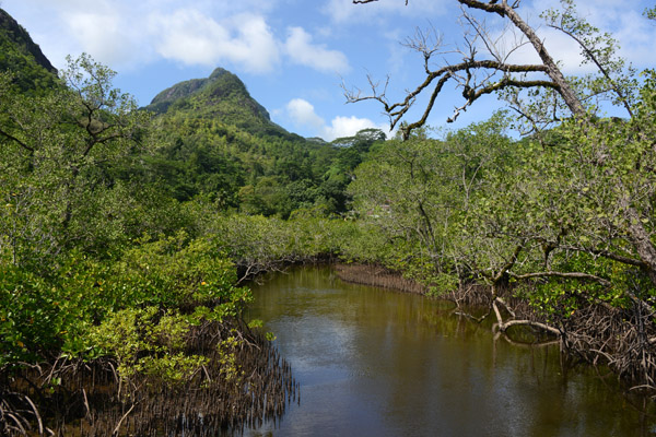
[[[612,376],[563,370],[558,346],[494,341],[448,303],[344,284],[328,268],[271,276],[254,293],[249,316],[277,334],[301,403],[246,435],[656,435]]]

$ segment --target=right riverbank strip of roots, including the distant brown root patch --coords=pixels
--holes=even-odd
[[[406,293],[427,292],[424,285],[379,265],[338,263],[335,271],[350,283]],[[493,331],[511,342],[537,344],[557,339],[561,352],[571,361],[610,368],[628,391],[640,392],[645,399],[656,394],[656,332],[649,328],[651,323],[644,322],[648,315],[634,308],[581,299],[578,309],[567,317],[550,318],[517,297],[511,287],[493,291],[477,284],[441,297],[456,304],[455,315],[475,323],[494,319]]]

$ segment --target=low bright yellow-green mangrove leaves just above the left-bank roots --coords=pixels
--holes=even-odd
[[[114,355],[120,351],[95,343],[92,333],[99,329],[109,334],[121,314],[141,317],[139,308],[151,308],[143,316],[150,320],[155,309],[169,308],[159,318],[161,331],[153,331],[162,340],[166,330],[179,331],[181,322],[235,317],[251,298],[248,290],[234,286],[234,264],[215,246],[184,234],[136,246],[118,261],[96,261],[73,251],[54,277],[0,267],[0,365],[44,358],[58,350],[72,356]],[[183,314],[172,312],[177,308],[187,308],[183,319]],[[116,329],[122,332],[125,327]],[[161,343],[179,349],[173,338]]]

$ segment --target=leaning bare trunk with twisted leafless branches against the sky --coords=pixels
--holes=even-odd
[[[375,1],[379,0],[353,0],[353,3],[372,3]],[[390,118],[391,128],[395,128],[415,103],[417,98],[423,93],[430,93],[427,105],[421,118],[402,128],[406,138],[412,129],[423,126],[426,122],[436,98],[449,81],[461,88],[464,103],[459,107],[456,107],[455,114],[447,120],[448,122],[454,121],[461,111],[466,110],[481,96],[508,88],[540,87],[552,90],[562,97],[562,101],[574,116],[583,116],[586,113],[581,97],[567,82],[535,28],[529,26],[517,13],[520,0],[512,2],[507,0],[502,0],[501,2],[494,0],[488,2],[478,0],[456,1],[460,3],[464,24],[469,28],[464,35],[465,48],[456,50],[457,54],[461,55],[459,62],[448,63],[444,61],[440,67],[434,68],[434,58],[444,56],[448,51],[444,47],[442,38],[434,36],[434,31],[418,31],[414,37],[407,39],[403,44],[423,56],[425,79],[421,84],[410,90],[402,101],[390,103],[386,96],[388,80],[380,86],[379,83],[368,78],[372,93],[364,95],[360,90],[347,90],[344,87],[347,101],[361,102],[374,99],[380,102]],[[406,4],[408,4],[408,0],[406,0]],[[517,31],[523,35],[523,38],[517,40],[514,47],[504,49],[500,38],[495,39],[487,31],[484,22],[478,21],[470,13],[470,10],[483,11],[507,20],[507,29]],[[534,47],[541,63],[511,62],[511,55],[517,48],[527,44]],[[481,47],[484,47],[485,54],[481,55],[479,52]],[[531,73],[540,73],[541,78],[536,78]]]

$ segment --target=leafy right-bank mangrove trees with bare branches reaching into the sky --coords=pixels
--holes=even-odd
[[[372,1],[377,0],[355,2]],[[458,3],[469,35],[483,43],[488,59],[477,59],[477,46],[466,36],[461,62],[431,70],[429,61],[440,54],[440,42],[429,44],[419,33],[408,45],[424,57],[422,84],[397,104],[375,86],[372,95],[350,93],[349,99],[379,101],[395,125],[432,87],[422,118],[402,128],[409,138],[425,123],[449,80],[465,98],[456,116],[481,95],[502,92],[531,137],[515,144],[514,164],[484,168],[484,192],[472,199],[452,234],[454,259],[490,286],[489,315],[500,331],[538,327],[590,361],[606,359],[621,375],[656,389],[656,73],[644,71],[639,81],[614,56],[610,35],[578,17],[571,0],[542,17],[581,47],[584,61],[597,68],[595,75],[564,78],[517,14],[520,1]],[[508,63],[471,10],[506,20],[542,63]],[[518,73],[546,79],[517,79]],[[520,91],[528,91],[528,98]],[[628,118],[600,117],[601,101],[622,108]],[[514,295],[507,295],[508,288]],[[535,312],[516,311],[508,296],[524,297]]]

